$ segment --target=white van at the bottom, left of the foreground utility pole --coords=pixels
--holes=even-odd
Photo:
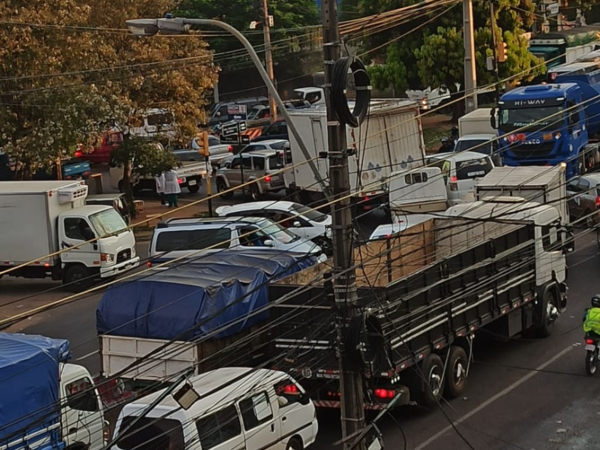
[[[227,367],[191,377],[187,384],[193,389],[184,396],[187,404],[176,387],[149,411],[164,390],[125,405],[114,438],[132,426],[113,448],[302,450],[315,442],[315,406],[283,372]],[[190,406],[188,399],[196,396]]]

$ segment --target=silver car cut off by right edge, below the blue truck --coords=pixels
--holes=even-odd
[[[569,215],[579,224],[593,227],[600,224],[600,173],[590,173],[567,183]]]

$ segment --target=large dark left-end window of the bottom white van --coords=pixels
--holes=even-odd
[[[137,417],[128,416],[121,422],[119,433]],[[141,417],[116,442],[123,450],[185,450],[183,428],[178,420]]]

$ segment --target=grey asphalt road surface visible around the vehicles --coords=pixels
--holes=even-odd
[[[145,244],[138,253],[146,254]],[[581,317],[600,291],[600,257],[595,237],[577,240],[569,256],[569,307],[554,334],[541,340],[492,342],[476,339],[475,364],[465,397],[425,410],[406,407],[380,423],[386,448],[412,450],[543,450],[600,447],[600,379],[585,375]],[[48,289],[50,292],[41,293]],[[39,294],[39,295],[37,295]],[[49,281],[2,279],[0,317],[30,310],[68,295]],[[91,295],[33,316],[9,331],[43,334],[71,341],[74,361],[93,374],[99,370],[95,309]],[[339,439],[339,416],[320,415],[315,450],[331,449]],[[454,423],[460,421],[460,423]],[[462,436],[462,438],[461,438]],[[406,439],[406,447],[404,445]]]

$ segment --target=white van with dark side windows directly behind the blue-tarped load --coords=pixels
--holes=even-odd
[[[291,233],[262,217],[211,217],[170,219],[154,229],[149,257],[152,262],[202,253],[230,250],[276,249],[300,253],[324,261],[326,256],[315,243]]]

